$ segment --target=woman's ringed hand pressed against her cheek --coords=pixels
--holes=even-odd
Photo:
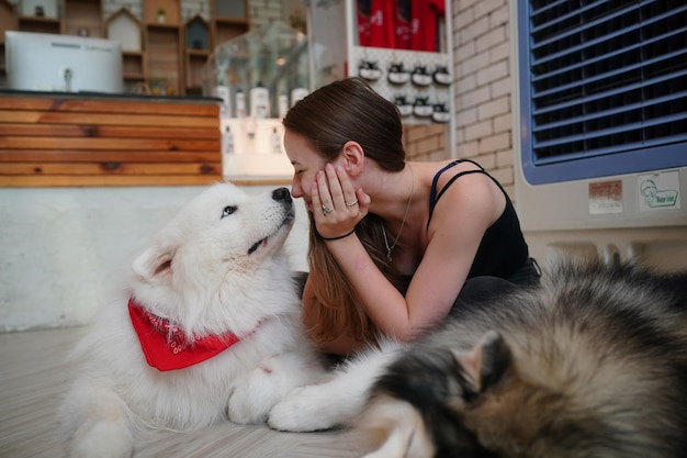
[[[370,196],[354,189],[342,167],[327,164],[312,185],[313,215],[317,232],[324,238],[350,234],[368,214]]]

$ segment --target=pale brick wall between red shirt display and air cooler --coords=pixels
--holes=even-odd
[[[482,164],[515,196],[508,0],[452,0],[455,153]],[[443,125],[407,126],[408,157],[449,156]]]

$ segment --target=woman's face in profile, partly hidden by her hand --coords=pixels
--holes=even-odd
[[[311,186],[315,182],[317,171],[323,170],[327,159],[309,142],[297,133],[286,130],[284,132],[284,149],[293,166],[293,180],[291,181],[291,196],[303,198],[308,211],[313,211],[311,199]],[[338,160],[338,158],[336,159]],[[333,164],[336,164],[333,160]]]

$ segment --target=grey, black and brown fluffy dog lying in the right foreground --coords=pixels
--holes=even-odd
[[[365,458],[684,457],[687,272],[560,266],[339,380],[296,389],[270,422],[339,415],[372,437]],[[313,396],[326,407],[304,414]]]

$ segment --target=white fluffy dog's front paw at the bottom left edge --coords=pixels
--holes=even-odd
[[[134,438],[124,422],[82,425],[71,440],[70,458],[131,458]]]

